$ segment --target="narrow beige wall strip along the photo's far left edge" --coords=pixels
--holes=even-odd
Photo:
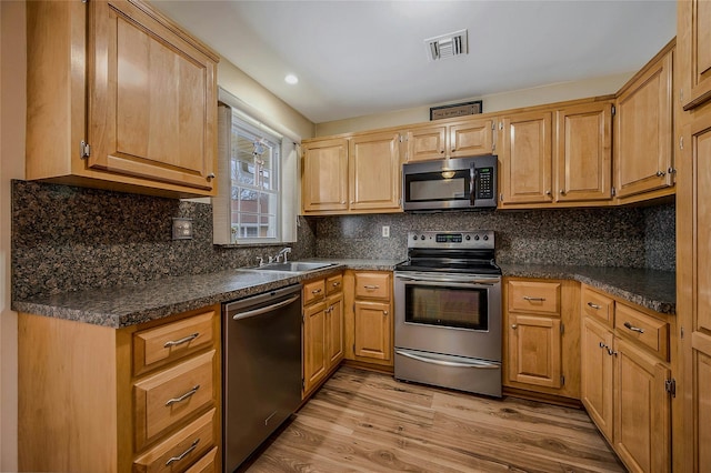
[[[23,0],[0,1],[0,471],[18,470],[18,326],[10,310],[10,180],[24,178]]]

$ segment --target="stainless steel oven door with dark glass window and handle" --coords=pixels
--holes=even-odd
[[[395,348],[501,361],[501,276],[394,275]]]

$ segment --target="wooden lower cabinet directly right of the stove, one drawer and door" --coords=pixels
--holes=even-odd
[[[580,396],[579,284],[504,278],[504,391]]]

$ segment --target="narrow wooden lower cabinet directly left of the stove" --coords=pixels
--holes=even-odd
[[[393,366],[391,271],[347,271],[346,359]]]

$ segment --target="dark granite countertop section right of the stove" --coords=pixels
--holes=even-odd
[[[653,311],[677,312],[677,274],[637,268],[500,264],[503,275],[569,279]]]

